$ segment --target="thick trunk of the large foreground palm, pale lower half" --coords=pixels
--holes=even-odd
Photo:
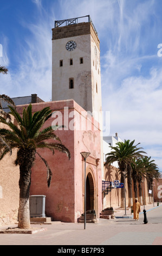
[[[17,162],[20,166],[20,201],[18,210],[18,228],[30,228],[29,192],[31,184],[31,167],[35,160],[35,150],[20,149]]]

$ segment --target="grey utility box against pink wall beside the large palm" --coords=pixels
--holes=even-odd
[[[45,202],[46,196],[34,195],[30,196],[30,217],[46,217],[45,215]]]

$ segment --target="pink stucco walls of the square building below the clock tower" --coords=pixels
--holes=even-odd
[[[101,146],[100,130],[98,123],[88,120],[84,109],[82,109],[74,100],[41,102],[33,104],[33,112],[49,106],[54,115],[47,121],[46,125],[54,124],[57,115],[56,111],[61,113],[65,125],[64,130],[57,130],[56,135],[61,139],[70,151],[71,158],[64,153],[55,151],[53,155],[50,150],[39,150],[41,156],[48,161],[53,172],[50,188],[47,187],[46,167],[39,157],[36,157],[35,165],[32,169],[30,195],[46,196],[46,215],[56,221],[77,222],[77,219],[83,213],[84,202],[84,162],[81,152],[89,151],[90,156],[87,159],[86,172],[90,173],[94,183],[94,208],[96,214],[102,210],[102,179],[101,179]],[[24,106],[18,106],[17,111],[22,113]],[[64,110],[66,107],[66,111]],[[68,111],[68,119],[67,119]],[[56,117],[54,117],[56,115]],[[81,129],[79,125],[88,122],[88,129]],[[75,129],[72,129],[73,125]],[[70,129],[69,129],[70,128]]]

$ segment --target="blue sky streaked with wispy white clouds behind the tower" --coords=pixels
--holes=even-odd
[[[0,64],[9,69],[0,76],[1,94],[36,93],[50,101],[54,21],[90,15],[100,39],[102,110],[110,112],[110,135],[140,142],[162,171],[161,0],[0,3]]]

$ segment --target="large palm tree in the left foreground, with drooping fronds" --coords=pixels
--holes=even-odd
[[[0,117],[0,121],[8,127],[8,129],[0,129],[0,136],[8,142],[11,149],[17,149],[15,164],[20,167],[18,228],[30,228],[29,190],[31,183],[31,167],[34,164],[36,154],[41,157],[37,149],[49,149],[53,154],[54,150],[59,150],[66,153],[69,159],[70,153],[61,143],[59,137],[55,135],[54,127],[49,126],[44,129],[42,127],[51,117],[49,107],[45,107],[32,115],[32,106],[30,104],[27,109],[23,109],[22,117],[13,107],[9,106],[9,108],[10,113],[17,120],[17,125],[13,124],[11,121],[7,122],[5,118]],[[55,129],[57,128],[56,126]],[[8,152],[8,147],[3,145],[0,160]],[[52,172],[47,161],[43,159],[43,157],[41,157],[41,159],[47,167],[47,183],[49,187]]]

